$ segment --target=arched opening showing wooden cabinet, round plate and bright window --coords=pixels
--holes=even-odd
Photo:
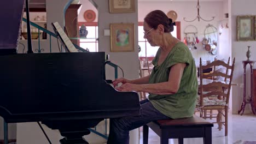
[[[64,10],[65,32],[71,41],[90,52],[98,51],[97,9],[91,1],[69,1]],[[82,25],[88,31],[86,38],[79,33]]]

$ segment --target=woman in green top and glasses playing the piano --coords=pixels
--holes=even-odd
[[[140,101],[141,116],[110,119],[108,144],[129,143],[129,131],[158,119],[193,116],[197,97],[194,59],[188,47],[171,34],[174,22],[161,10],[150,12],[143,23],[144,38],[159,46],[149,76],[135,80],[113,81],[118,91],[148,92]]]

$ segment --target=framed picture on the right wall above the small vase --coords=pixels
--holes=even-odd
[[[237,41],[255,40],[255,16],[237,16],[236,20]]]

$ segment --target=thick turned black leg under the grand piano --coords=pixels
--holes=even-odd
[[[90,134],[90,130],[83,131],[61,131],[61,135],[65,136],[60,140],[61,144],[89,144],[84,138],[84,135]]]

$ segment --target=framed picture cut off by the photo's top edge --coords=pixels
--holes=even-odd
[[[135,0],[109,0],[109,13],[134,13]]]

